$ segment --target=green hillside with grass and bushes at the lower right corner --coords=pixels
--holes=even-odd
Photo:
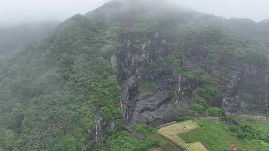
[[[179,136],[186,142],[201,141],[209,151],[269,150],[268,141],[266,143],[266,141],[261,140],[262,137],[268,136],[267,125],[269,120],[240,116],[235,116],[235,119],[240,119],[237,127],[235,125],[229,126],[220,120],[195,120],[200,125],[200,128]],[[255,125],[254,122],[257,124]],[[234,129],[239,130],[234,131]],[[261,129],[264,130],[260,131]]]

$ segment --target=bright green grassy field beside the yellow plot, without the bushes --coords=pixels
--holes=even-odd
[[[241,140],[221,120],[194,120],[200,128],[179,136],[186,142],[200,141],[209,151],[268,151],[269,144],[256,139]]]

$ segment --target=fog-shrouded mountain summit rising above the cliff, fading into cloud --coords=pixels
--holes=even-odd
[[[105,20],[125,19],[131,21],[139,15],[141,17],[169,16],[179,18],[181,13],[194,13],[194,11],[179,5],[173,5],[167,0],[112,0],[86,13],[85,16]]]

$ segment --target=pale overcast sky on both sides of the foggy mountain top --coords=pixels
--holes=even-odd
[[[109,0],[0,0],[0,25],[85,14]],[[146,0],[145,0],[146,1]],[[169,0],[225,18],[269,19],[269,0]]]

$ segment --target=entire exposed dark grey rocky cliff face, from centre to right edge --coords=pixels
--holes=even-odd
[[[136,43],[138,51],[130,47],[134,41],[119,41],[120,52],[111,57],[111,63],[115,77],[124,85],[120,105],[127,123],[156,126],[173,121],[176,115],[185,114],[185,109],[194,104],[190,99],[192,92],[200,85],[182,73],[199,68],[211,75],[228,69],[222,75],[216,75],[220,96],[208,101],[210,105],[219,106],[226,112],[269,110],[268,76],[258,66],[230,60],[229,57],[220,57],[218,65],[212,65],[208,61],[206,49],[191,46],[188,48],[191,57],[184,49],[184,55],[180,56],[180,74],[175,74],[177,69],[172,64],[149,70],[148,66],[156,60],[178,51],[173,45],[164,45],[169,42],[173,42],[172,35],[164,36],[158,32],[148,35],[147,40]],[[146,83],[153,83],[154,86],[146,87],[147,90],[139,89]],[[252,100],[243,100],[243,92],[252,92]]]

